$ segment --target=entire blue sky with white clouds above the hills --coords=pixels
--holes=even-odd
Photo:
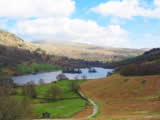
[[[160,0],[0,0],[0,29],[30,42],[160,47]]]

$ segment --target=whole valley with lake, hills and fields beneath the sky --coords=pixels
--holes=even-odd
[[[33,118],[160,118],[160,49],[27,43],[0,34],[0,94],[31,106]]]

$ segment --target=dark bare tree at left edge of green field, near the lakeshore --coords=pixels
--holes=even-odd
[[[30,98],[37,98],[37,93],[34,87],[34,83],[29,82],[27,85],[24,85],[22,94]]]

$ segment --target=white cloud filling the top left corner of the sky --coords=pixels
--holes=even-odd
[[[72,0],[0,0],[0,17],[69,16],[74,9]]]

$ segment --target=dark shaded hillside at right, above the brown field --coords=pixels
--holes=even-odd
[[[133,59],[112,63],[110,67],[118,67],[122,75],[160,74],[160,48],[154,48]]]

